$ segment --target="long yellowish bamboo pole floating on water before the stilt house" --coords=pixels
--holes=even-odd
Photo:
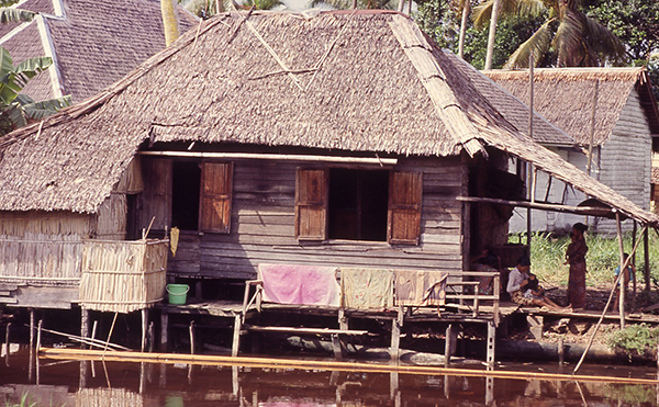
[[[103,352],[87,349],[43,349],[42,357],[56,360],[99,360]],[[618,383],[618,384],[659,384],[657,378],[615,377],[615,376],[589,376],[574,374],[556,374],[543,372],[517,372],[517,371],[485,371],[457,368],[439,366],[415,366],[401,364],[377,364],[339,361],[313,361],[280,358],[252,358],[252,357],[222,357],[208,354],[182,354],[182,353],[142,353],[142,352],[113,352],[104,357],[109,362],[154,362],[163,364],[188,363],[201,365],[223,366],[249,366],[249,368],[277,368],[277,369],[323,369],[344,372],[373,372],[422,375],[455,375],[461,377],[496,377],[510,380],[557,380],[580,381],[593,383]]]

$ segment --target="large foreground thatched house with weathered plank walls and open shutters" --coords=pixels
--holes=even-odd
[[[23,284],[14,305],[51,290],[70,306],[88,239],[172,228],[167,273],[206,297],[233,295],[261,262],[466,270],[483,248],[506,249],[514,205],[535,205],[510,157],[659,225],[524,135],[459,64],[389,11],[202,22],[0,139],[0,276]]]

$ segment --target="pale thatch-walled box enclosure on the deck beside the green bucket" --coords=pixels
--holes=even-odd
[[[85,240],[80,306],[130,313],[161,301],[169,240]]]

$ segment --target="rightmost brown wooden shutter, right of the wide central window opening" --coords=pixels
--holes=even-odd
[[[390,244],[418,245],[423,174],[394,172],[389,176],[387,240]]]

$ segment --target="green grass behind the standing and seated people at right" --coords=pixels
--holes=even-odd
[[[638,236],[643,239],[643,236]],[[510,242],[526,241],[525,237],[517,234],[511,235]],[[633,246],[632,234],[623,238],[626,252],[630,252]],[[587,234],[588,255],[585,263],[588,269],[587,285],[602,286],[611,285],[615,280],[614,270],[619,264],[619,249],[616,237],[593,236]],[[538,275],[544,284],[555,286],[567,286],[569,265],[563,264],[566,250],[570,239],[568,236],[554,236],[548,233],[534,233],[530,238],[530,262],[532,271]],[[659,281],[659,238],[656,234],[649,235],[649,264],[650,280],[657,285]],[[645,286],[644,278],[644,247],[639,244],[636,253],[637,284],[640,289]]]

